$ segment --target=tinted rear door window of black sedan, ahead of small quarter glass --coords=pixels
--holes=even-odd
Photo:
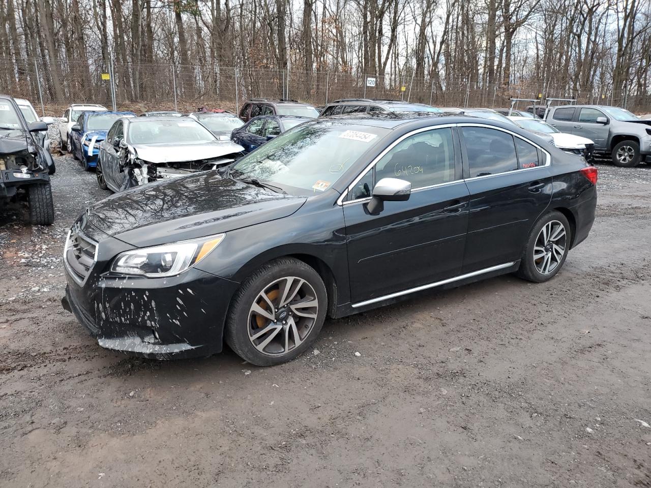
[[[518,169],[518,156],[513,136],[484,127],[464,127],[470,178]]]

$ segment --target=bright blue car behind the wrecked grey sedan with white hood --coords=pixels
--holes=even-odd
[[[135,117],[135,113],[85,111],[77,118],[75,125],[70,129],[68,152],[85,170],[89,171],[97,166],[100,142],[106,139],[113,122],[120,117]]]

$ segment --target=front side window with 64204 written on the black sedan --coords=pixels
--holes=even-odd
[[[433,129],[398,142],[376,165],[376,179],[400,178],[421,188],[454,181],[452,129]]]

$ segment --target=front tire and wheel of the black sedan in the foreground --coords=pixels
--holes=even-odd
[[[257,305],[259,309],[260,305],[258,304],[262,304],[264,311],[268,311],[268,304],[270,301],[275,302],[273,305],[280,305],[280,302],[283,299],[283,288],[281,287],[284,283],[279,284],[278,291],[276,291],[273,297],[271,296],[273,291],[268,293],[268,290],[275,286],[276,283],[281,283],[283,280],[292,278],[292,281],[287,282],[288,286],[286,286],[286,288],[289,289],[288,295],[292,295],[292,289],[294,286],[297,286],[297,290],[292,296],[297,297],[298,300],[292,300],[288,305],[280,307],[279,311],[275,312],[275,314],[273,314],[273,310],[269,310],[277,321],[268,319],[266,325],[261,325],[258,320],[262,319],[262,321],[264,321],[265,319],[259,314],[252,315],[255,314],[254,307]],[[296,278],[299,278],[299,281],[296,281]],[[300,280],[305,280],[305,282],[301,284]],[[300,284],[300,286],[298,286],[298,284]],[[305,290],[310,291],[309,293],[305,293],[304,297],[300,297],[299,295],[303,293],[304,290],[303,286],[305,287]],[[262,300],[262,293],[269,298],[269,301]],[[308,310],[299,305],[301,304],[301,301],[303,301],[303,303],[313,303],[314,299],[316,299],[317,305],[311,306],[311,310],[309,310],[309,314],[314,315],[314,317],[306,318],[307,315],[303,315],[303,313],[308,312]],[[291,306],[292,303],[295,305]],[[303,310],[303,312],[299,314],[297,309]],[[281,364],[298,357],[311,347],[323,326],[324,320],[326,319],[326,310],[326,286],[318,273],[316,273],[312,267],[297,259],[279,258],[262,265],[260,269],[246,278],[242,282],[238,291],[236,291],[227,314],[224,333],[225,340],[238,356],[247,360],[251,364],[255,364],[256,366],[273,366],[275,364]],[[294,312],[294,314],[292,315],[290,312]],[[254,317],[255,319],[253,319]],[[285,317],[287,318],[287,325],[283,325],[283,318]],[[296,326],[291,327],[290,323],[296,323]],[[280,342],[278,347],[283,349],[284,352],[265,353],[254,346],[254,340],[258,339],[251,338],[251,334],[259,334],[264,331],[264,329],[270,327],[276,327],[279,330],[271,329],[268,334],[260,336],[258,347],[264,343],[266,338],[275,333],[269,346],[277,345],[275,341],[278,340]],[[289,332],[287,329],[289,329]],[[283,344],[288,344],[288,342],[284,338],[284,334],[291,334],[292,337],[294,337],[294,331],[305,331],[305,335],[301,338],[301,342],[298,346],[295,345],[296,340],[293,340],[294,346],[285,348]],[[269,346],[262,346],[262,349]]]

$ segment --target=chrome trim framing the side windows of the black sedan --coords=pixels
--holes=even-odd
[[[385,150],[383,150],[378,156],[376,156],[373,159],[373,161],[368,163],[367,167],[365,167],[359,173],[359,175],[357,175],[357,178],[355,178],[355,180],[353,180],[353,182],[350,183],[350,185],[348,185],[348,187],[346,187],[346,190],[344,191],[344,193],[342,193],[340,195],[340,197],[337,198],[337,205],[344,206],[344,205],[352,204],[352,203],[368,202],[368,200],[370,200],[371,197],[365,197],[365,198],[356,198],[355,200],[350,200],[350,202],[344,202],[344,198],[348,197],[348,193],[353,189],[353,187],[357,183],[359,183],[359,180],[361,180],[363,178],[363,176],[365,174],[367,174],[367,171],[370,170],[371,168],[375,167],[375,165],[378,163],[378,161],[380,161],[380,159],[382,159],[382,157],[384,157],[385,154],[387,154],[387,152],[389,152],[391,149],[393,149],[396,146],[396,144],[404,141],[404,139],[406,139],[407,137],[409,137],[411,135],[414,135],[414,134],[417,134],[417,133],[421,133],[421,132],[425,132],[425,131],[429,131],[429,130],[434,130],[434,129],[446,129],[446,128],[451,128],[451,127],[456,127],[456,128],[482,127],[482,128],[487,128],[487,129],[499,130],[499,131],[502,131],[502,132],[506,132],[506,133],[508,133],[510,135],[513,135],[515,137],[519,137],[519,139],[522,139],[525,142],[529,142],[529,144],[531,144],[532,146],[534,146],[534,147],[536,147],[536,148],[538,148],[538,149],[540,149],[542,151],[542,154],[544,154],[544,157],[545,157],[545,164],[540,165],[540,166],[534,166],[533,168],[514,169],[514,170],[510,170],[510,171],[503,171],[501,173],[484,174],[483,176],[473,176],[473,178],[461,178],[460,180],[454,180],[452,182],[436,183],[435,185],[428,185],[428,186],[424,186],[424,187],[414,188],[414,189],[411,190],[412,192],[431,189],[431,188],[436,188],[436,187],[443,186],[443,185],[450,185],[451,183],[458,183],[458,182],[464,182],[464,181],[465,182],[470,182],[470,181],[473,181],[473,180],[478,180],[480,178],[491,178],[492,176],[501,176],[503,174],[517,173],[517,172],[521,172],[521,171],[530,171],[530,170],[533,170],[533,169],[547,168],[547,167],[551,166],[551,154],[549,154],[549,152],[547,152],[547,150],[545,148],[540,146],[540,144],[536,144],[536,142],[531,141],[531,139],[527,139],[526,137],[524,137],[522,135],[519,135],[518,133],[515,133],[513,131],[510,131],[509,129],[505,129],[505,128],[501,128],[501,127],[497,127],[497,126],[492,126],[490,124],[482,124],[481,122],[461,122],[461,123],[457,123],[457,124],[441,124],[440,126],[428,126],[428,127],[421,128],[421,129],[415,129],[415,130],[413,130],[411,132],[408,132],[408,133],[402,135],[401,137],[396,139],[396,141],[393,141],[387,148],[385,148]]]

